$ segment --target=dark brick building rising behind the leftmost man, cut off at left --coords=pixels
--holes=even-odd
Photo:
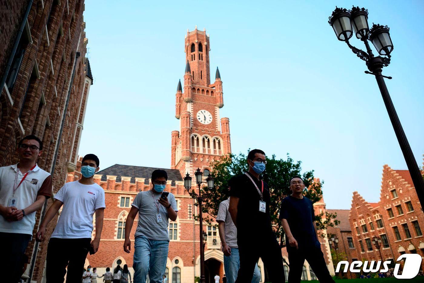
[[[53,192],[75,170],[92,85],[83,12],[83,0],[0,3],[0,166],[16,163],[17,143],[34,134],[44,143],[37,163],[52,173]],[[36,217],[34,234],[40,212]],[[25,276],[33,265],[33,282],[42,282],[47,242],[38,246],[36,260],[34,244],[26,251],[31,262]]]

